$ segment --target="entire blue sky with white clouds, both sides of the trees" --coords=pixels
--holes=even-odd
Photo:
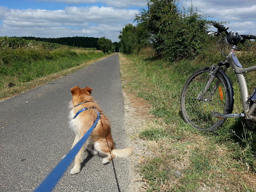
[[[229,30],[256,35],[256,0],[180,0]],[[106,37],[119,41],[126,24],[147,8],[147,0],[2,0],[0,36]],[[181,8],[182,9],[182,8]]]

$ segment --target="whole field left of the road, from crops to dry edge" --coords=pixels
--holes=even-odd
[[[0,37],[0,98],[8,98],[106,56],[102,51]]]

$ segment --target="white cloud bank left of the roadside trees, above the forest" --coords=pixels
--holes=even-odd
[[[0,8],[1,9],[1,8]],[[112,7],[67,7],[65,10],[5,9],[0,36],[88,36],[118,41],[138,10]]]

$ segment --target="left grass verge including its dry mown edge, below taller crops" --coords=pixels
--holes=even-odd
[[[38,87],[109,56],[101,51],[93,50],[72,49],[67,51],[71,54],[65,55],[65,48],[64,51],[53,51],[52,54],[55,56],[50,60],[15,62],[9,66],[1,64],[0,100]]]

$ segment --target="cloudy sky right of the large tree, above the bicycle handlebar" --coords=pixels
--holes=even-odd
[[[190,0],[179,2],[185,8],[191,6]],[[256,2],[255,0],[223,1],[223,0],[194,0],[193,7],[197,8],[200,14],[211,17],[216,21],[227,22],[225,25],[230,30],[239,34],[256,35]],[[216,30],[216,29],[214,29]]]

